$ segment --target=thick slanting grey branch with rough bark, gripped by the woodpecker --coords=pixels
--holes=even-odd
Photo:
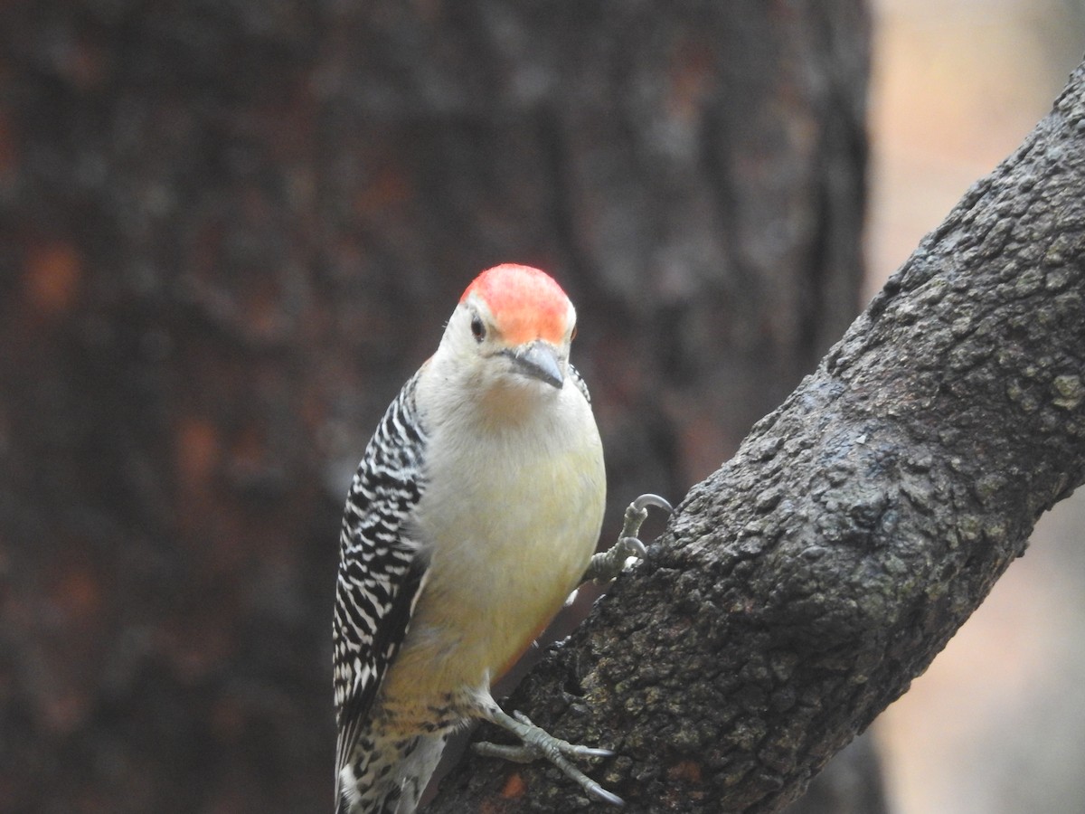
[[[509,702],[633,812],[770,812],[1085,476],[1085,64]],[[494,733],[485,733],[493,736]],[[575,810],[472,759],[433,811]]]

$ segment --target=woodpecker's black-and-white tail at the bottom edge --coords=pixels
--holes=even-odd
[[[360,743],[360,756],[340,772],[335,814],[413,814],[447,740],[446,732]]]

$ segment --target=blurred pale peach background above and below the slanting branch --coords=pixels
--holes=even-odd
[[[1085,52],[1081,0],[875,0],[868,294]],[[894,814],[1085,811],[1085,495],[875,724]]]

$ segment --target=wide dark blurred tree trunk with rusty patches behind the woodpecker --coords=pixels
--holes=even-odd
[[[857,309],[860,0],[0,10],[0,810],[330,805],[339,513],[480,269],[582,314],[613,508]]]

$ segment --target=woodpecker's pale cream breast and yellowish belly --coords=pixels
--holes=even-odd
[[[426,461],[413,523],[431,564],[393,669],[426,675],[423,694],[496,678],[587,568],[605,499],[602,447],[587,404],[562,407],[497,430],[433,433],[431,449],[444,451]]]

